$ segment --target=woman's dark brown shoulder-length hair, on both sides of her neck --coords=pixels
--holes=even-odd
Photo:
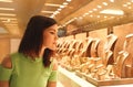
[[[34,15],[28,22],[25,32],[21,40],[18,52],[30,57],[39,57],[43,44],[43,31],[49,26],[57,24],[52,18]],[[50,66],[50,57],[53,51],[45,48],[43,53],[43,65]]]

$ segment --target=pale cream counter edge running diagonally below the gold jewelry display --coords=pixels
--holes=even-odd
[[[69,72],[61,66],[59,66],[59,80],[64,87],[95,87],[93,84],[76,76],[74,72]]]

